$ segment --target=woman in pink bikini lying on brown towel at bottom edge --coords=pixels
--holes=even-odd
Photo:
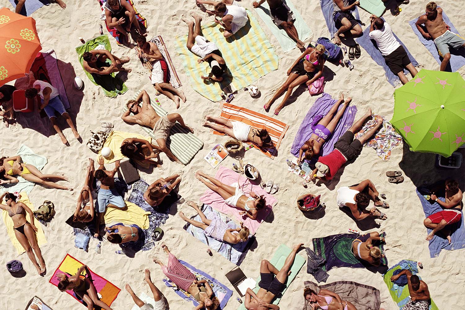
[[[304,288],[304,298],[311,304],[314,310],[357,310],[352,303],[342,300],[338,294],[331,290],[319,290],[317,294],[311,288],[306,287]]]

